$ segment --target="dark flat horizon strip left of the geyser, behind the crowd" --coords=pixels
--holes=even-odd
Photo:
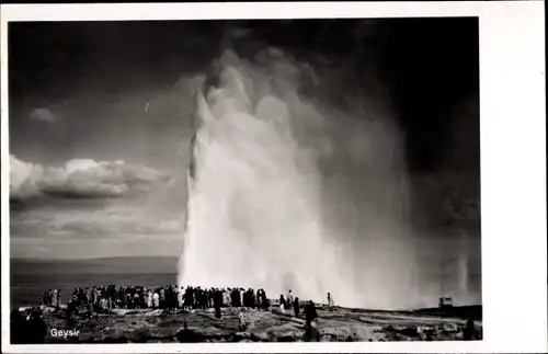
[[[70,261],[11,260],[11,306],[42,304],[44,292],[61,289],[66,304],[75,287],[176,284],[176,259],[114,258]]]

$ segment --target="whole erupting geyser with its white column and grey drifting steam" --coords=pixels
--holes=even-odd
[[[421,306],[389,117],[279,50],[226,52],[196,90],[182,286],[253,287],[368,308]],[[334,71],[333,71],[334,72]]]

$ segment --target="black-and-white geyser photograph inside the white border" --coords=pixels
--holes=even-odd
[[[479,16],[7,30],[11,344],[483,341]]]

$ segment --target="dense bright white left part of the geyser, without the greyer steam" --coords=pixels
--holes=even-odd
[[[323,298],[322,277],[332,286],[342,277],[321,235],[315,157],[294,140],[279,92],[287,82],[227,59],[236,62],[218,72],[218,87],[196,93],[179,282]]]

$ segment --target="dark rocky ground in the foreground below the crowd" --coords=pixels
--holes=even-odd
[[[481,309],[480,309],[481,310]],[[248,326],[239,329],[238,309],[222,309],[222,319],[212,310],[167,312],[115,309],[112,315],[90,319],[66,319],[64,309],[46,309],[46,343],[165,343],[165,342],[299,342],[306,341],[302,317],[246,310]],[[481,313],[481,312],[480,312]],[[467,319],[448,313],[370,311],[318,308],[320,341],[455,341],[464,339]],[[481,317],[481,316],[479,316]],[[470,318],[470,316],[468,316]],[[185,329],[186,323],[186,329]],[[481,339],[481,320],[475,320],[475,338]],[[79,330],[76,336],[55,336],[56,330]]]

